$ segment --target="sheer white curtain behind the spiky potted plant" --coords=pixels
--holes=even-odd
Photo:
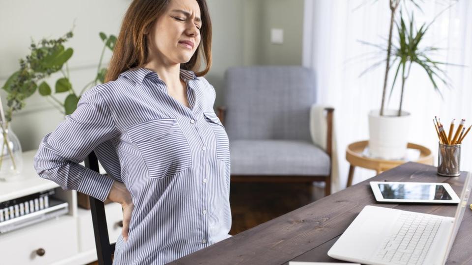
[[[334,187],[335,190],[346,186],[347,145],[368,139],[367,113],[381,105],[385,64],[359,75],[386,54],[361,41],[386,47],[390,21],[388,1],[305,0],[303,65],[312,68],[317,77],[318,103],[335,107],[340,161],[340,186]],[[409,141],[431,149],[436,165],[438,138],[433,126],[434,116],[440,117],[447,128],[452,118],[456,118],[456,124],[461,118],[466,119],[467,126],[472,124],[472,16],[469,15],[472,1],[417,2],[421,10],[414,6],[407,6],[406,10],[408,14],[414,13],[418,26],[437,17],[421,45],[442,48],[433,56],[438,61],[466,66],[443,68],[452,85],[452,89],[439,85],[443,99],[419,67],[412,67],[406,82],[403,110],[412,113]],[[453,4],[452,7],[438,16],[449,4]],[[406,17],[405,11],[403,14]],[[395,43],[396,31],[393,37]],[[389,83],[392,79],[393,73],[390,73]],[[396,85],[388,108],[398,108],[399,88]],[[461,169],[466,171],[472,169],[471,133],[462,145]],[[374,175],[374,171],[356,168],[354,183]]]

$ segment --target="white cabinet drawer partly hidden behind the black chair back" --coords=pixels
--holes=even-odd
[[[79,251],[88,251],[95,249],[95,236],[93,234],[92,215],[90,210],[78,209],[78,228],[79,228]],[[105,205],[105,215],[107,218],[108,237],[110,243],[117,241],[121,233],[121,227],[118,222],[123,220],[123,211],[118,203],[109,203]]]

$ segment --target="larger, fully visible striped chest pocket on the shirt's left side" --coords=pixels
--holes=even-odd
[[[144,159],[149,178],[169,177],[192,165],[189,144],[176,119],[142,122],[127,132]]]

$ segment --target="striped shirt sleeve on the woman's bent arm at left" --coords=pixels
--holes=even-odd
[[[113,179],[79,164],[97,145],[118,132],[108,106],[95,88],[86,91],[77,109],[43,137],[34,156],[34,168],[41,178],[64,190],[77,190],[105,201]]]

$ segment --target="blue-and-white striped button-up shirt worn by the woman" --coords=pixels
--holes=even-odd
[[[114,264],[164,264],[231,237],[230,151],[207,79],[180,70],[189,106],[146,68],[86,91],[44,136],[34,157],[41,178],[101,201],[113,180],[135,205]],[[94,151],[107,175],[79,163]]]

